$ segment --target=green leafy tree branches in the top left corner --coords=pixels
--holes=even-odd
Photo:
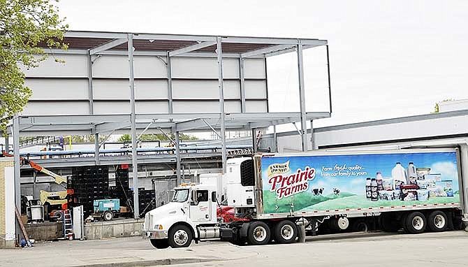
[[[59,16],[54,0],[0,0],[0,131],[10,117],[23,110],[31,89],[24,85],[24,68],[46,59],[48,48],[68,48],[64,31],[68,24]],[[59,59],[55,59],[60,62]]]

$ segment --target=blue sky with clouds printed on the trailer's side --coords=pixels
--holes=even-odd
[[[409,162],[413,162],[416,168],[431,168],[431,173],[440,173],[442,180],[453,180],[453,191],[458,191],[458,168],[455,152],[430,152],[430,153],[402,153],[402,154],[360,154],[343,156],[301,156],[301,157],[263,157],[262,158],[262,179],[263,189],[269,190],[268,184],[268,166],[270,164],[281,164],[289,162],[290,173],[295,173],[298,168],[302,170],[306,167],[316,169],[315,179],[309,182],[308,192],[314,188],[323,187],[323,195],[333,193],[333,187],[337,187],[341,192],[353,194],[365,194],[365,180],[367,177],[375,178],[376,173],[380,171],[383,178],[391,178],[392,169],[397,161],[401,162],[404,168],[407,168]],[[367,175],[356,176],[337,176],[321,177],[322,166],[334,167],[335,164],[346,167],[363,167]],[[332,171],[328,171],[332,173]],[[284,173],[283,175],[287,175]]]

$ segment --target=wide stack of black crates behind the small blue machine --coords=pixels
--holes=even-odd
[[[85,217],[94,212],[95,199],[109,198],[108,166],[75,167],[68,189],[73,189],[73,199],[76,204],[83,205]]]

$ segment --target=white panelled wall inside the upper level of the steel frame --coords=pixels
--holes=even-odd
[[[66,63],[54,62],[63,59]],[[166,58],[163,58],[166,60]],[[173,57],[175,113],[219,113],[218,66],[214,57]],[[226,112],[240,112],[239,60],[224,59]],[[137,113],[168,113],[166,64],[154,56],[135,56]],[[33,96],[23,115],[89,114],[86,55],[55,55],[24,70]],[[247,112],[266,112],[264,59],[245,59]],[[92,64],[95,114],[130,113],[129,64],[125,55],[101,55]],[[205,101],[207,100],[207,101]]]

